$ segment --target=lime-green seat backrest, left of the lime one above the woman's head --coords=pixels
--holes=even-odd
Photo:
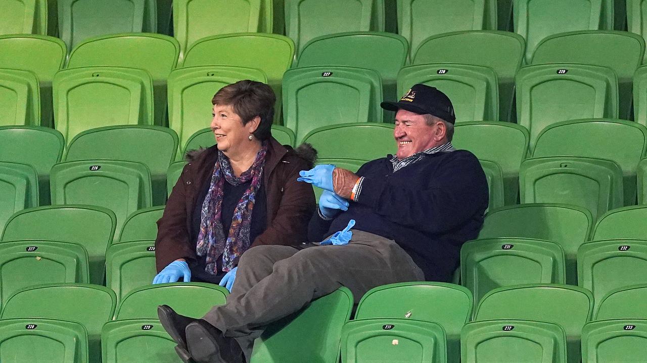
[[[147,0],[147,5],[155,1]],[[153,78],[155,118],[166,126],[166,79],[177,65],[180,45],[162,34],[115,34],[87,39],[70,54],[68,68],[115,66],[148,70]]]

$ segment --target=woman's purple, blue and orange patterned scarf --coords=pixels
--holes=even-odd
[[[236,264],[241,254],[249,248],[252,209],[254,209],[254,202],[256,202],[256,192],[261,186],[265,154],[267,154],[267,141],[263,142],[263,147],[256,154],[256,160],[254,160],[252,167],[237,177],[232,171],[229,159],[222,151],[218,151],[218,161],[215,163],[214,175],[211,178],[209,191],[204,198],[200,234],[195,247],[198,256],[206,254],[206,268],[204,271],[207,273],[217,275],[216,259],[221,254],[223,255],[223,271],[230,271],[235,267],[234,264]],[[225,180],[234,186],[252,181],[236,205],[236,209],[234,209],[232,225],[226,238],[223,222],[221,221]]]

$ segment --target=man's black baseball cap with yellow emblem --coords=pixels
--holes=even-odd
[[[428,85],[413,85],[410,90],[397,102],[384,101],[380,103],[382,109],[397,111],[408,110],[417,114],[430,114],[442,118],[449,123],[456,121],[454,106],[446,94]]]

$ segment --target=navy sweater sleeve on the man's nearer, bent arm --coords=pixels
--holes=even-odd
[[[390,178],[365,177],[358,203],[391,222],[428,233],[450,231],[487,207],[485,173],[470,153],[457,154],[423,178],[396,184]]]

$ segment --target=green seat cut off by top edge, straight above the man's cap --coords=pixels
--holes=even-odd
[[[462,30],[487,28],[486,0],[398,1],[398,32],[415,54],[429,36]]]

